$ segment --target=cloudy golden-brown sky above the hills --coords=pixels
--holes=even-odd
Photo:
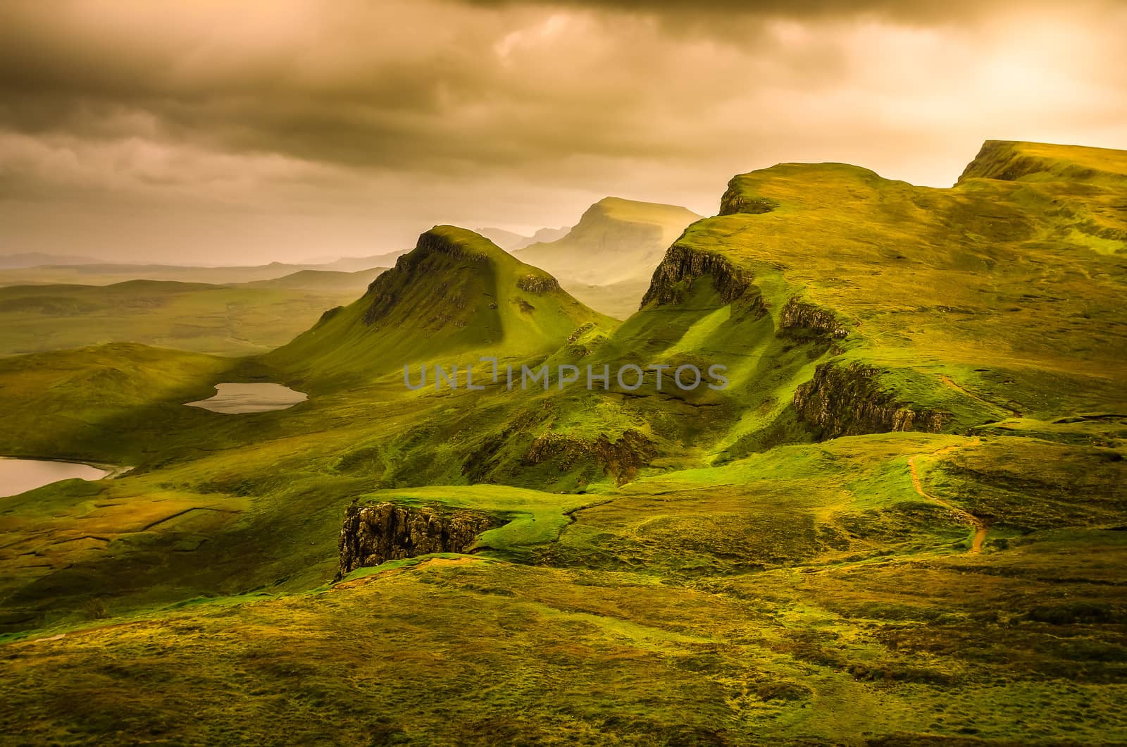
[[[258,264],[735,174],[1127,149],[1119,0],[5,0],[0,254]]]

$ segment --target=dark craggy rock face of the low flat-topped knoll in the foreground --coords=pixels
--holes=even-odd
[[[434,508],[409,508],[396,503],[350,506],[340,527],[340,575],[389,560],[428,553],[460,553],[477,536],[504,521],[488,513]]]

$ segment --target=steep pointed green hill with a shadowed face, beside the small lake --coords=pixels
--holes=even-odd
[[[471,351],[522,359],[556,350],[585,324],[614,323],[485,237],[435,226],[363,297],[327,311],[268,360],[372,375],[405,363],[454,363],[447,357]]]

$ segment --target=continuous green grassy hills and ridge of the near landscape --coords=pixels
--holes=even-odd
[[[1127,740],[1124,158],[740,175],[621,325],[436,227],[267,355],[0,360],[0,454],[134,467],[0,504],[0,731]],[[730,384],[403,387],[491,353]],[[180,405],[256,380],[310,398]],[[505,524],[334,583],[346,509],[383,501]]]

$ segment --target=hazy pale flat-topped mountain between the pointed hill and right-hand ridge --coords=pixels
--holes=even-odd
[[[665,249],[698,219],[676,205],[604,197],[562,238],[517,254],[556,275],[585,304],[625,317],[637,310]]]

